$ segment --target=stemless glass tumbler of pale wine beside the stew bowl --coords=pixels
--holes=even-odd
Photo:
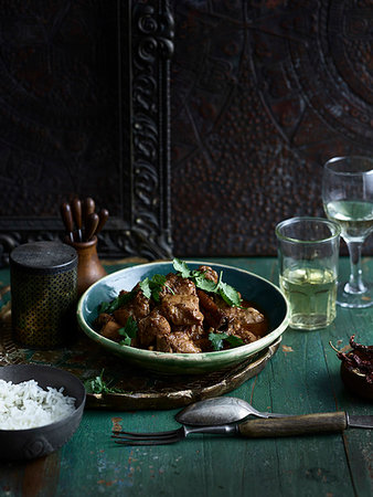
[[[276,226],[291,328],[320,329],[334,320],[340,234],[340,226],[323,218],[292,218]]]

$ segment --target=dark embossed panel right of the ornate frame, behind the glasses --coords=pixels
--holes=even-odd
[[[323,162],[372,156],[373,4],[173,3],[174,251],[275,254],[277,222],[324,215]]]

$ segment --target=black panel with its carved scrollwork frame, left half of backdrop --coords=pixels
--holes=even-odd
[[[0,252],[93,197],[103,256],[171,253],[167,0],[0,1]]]

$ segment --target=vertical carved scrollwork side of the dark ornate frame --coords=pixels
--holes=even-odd
[[[146,251],[157,245],[170,256],[170,124],[168,75],[173,53],[169,2],[134,8],[134,209],[132,232]],[[160,98],[160,95],[163,97]],[[147,246],[148,245],[148,246]]]

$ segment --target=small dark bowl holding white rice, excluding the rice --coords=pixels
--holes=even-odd
[[[50,366],[17,364],[0,368],[0,379],[21,383],[35,380],[46,389],[64,388],[64,395],[73,396],[75,411],[68,416],[45,426],[26,430],[0,430],[0,459],[22,461],[42,457],[62,447],[78,427],[86,399],[83,383],[74,374]]]

